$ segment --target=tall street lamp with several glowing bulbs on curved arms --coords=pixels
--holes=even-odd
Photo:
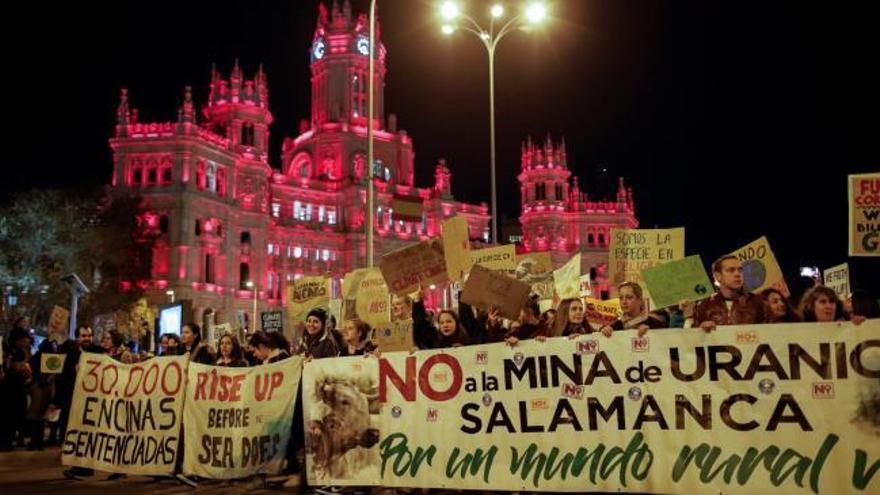
[[[504,7],[500,4],[493,5],[489,13],[489,29],[485,29],[473,17],[462,13],[455,2],[444,2],[440,7],[440,15],[448,22],[443,25],[443,34],[450,35],[457,28],[472,33],[483,42],[489,56],[489,174],[492,191],[492,242],[498,243],[498,196],[495,185],[495,48],[511,31],[543,21],[547,17],[547,8],[542,3],[532,3],[526,7],[524,12],[508,19],[497,31],[495,30],[495,21],[504,16]],[[459,18],[464,19],[465,22],[461,25],[451,24]]]

